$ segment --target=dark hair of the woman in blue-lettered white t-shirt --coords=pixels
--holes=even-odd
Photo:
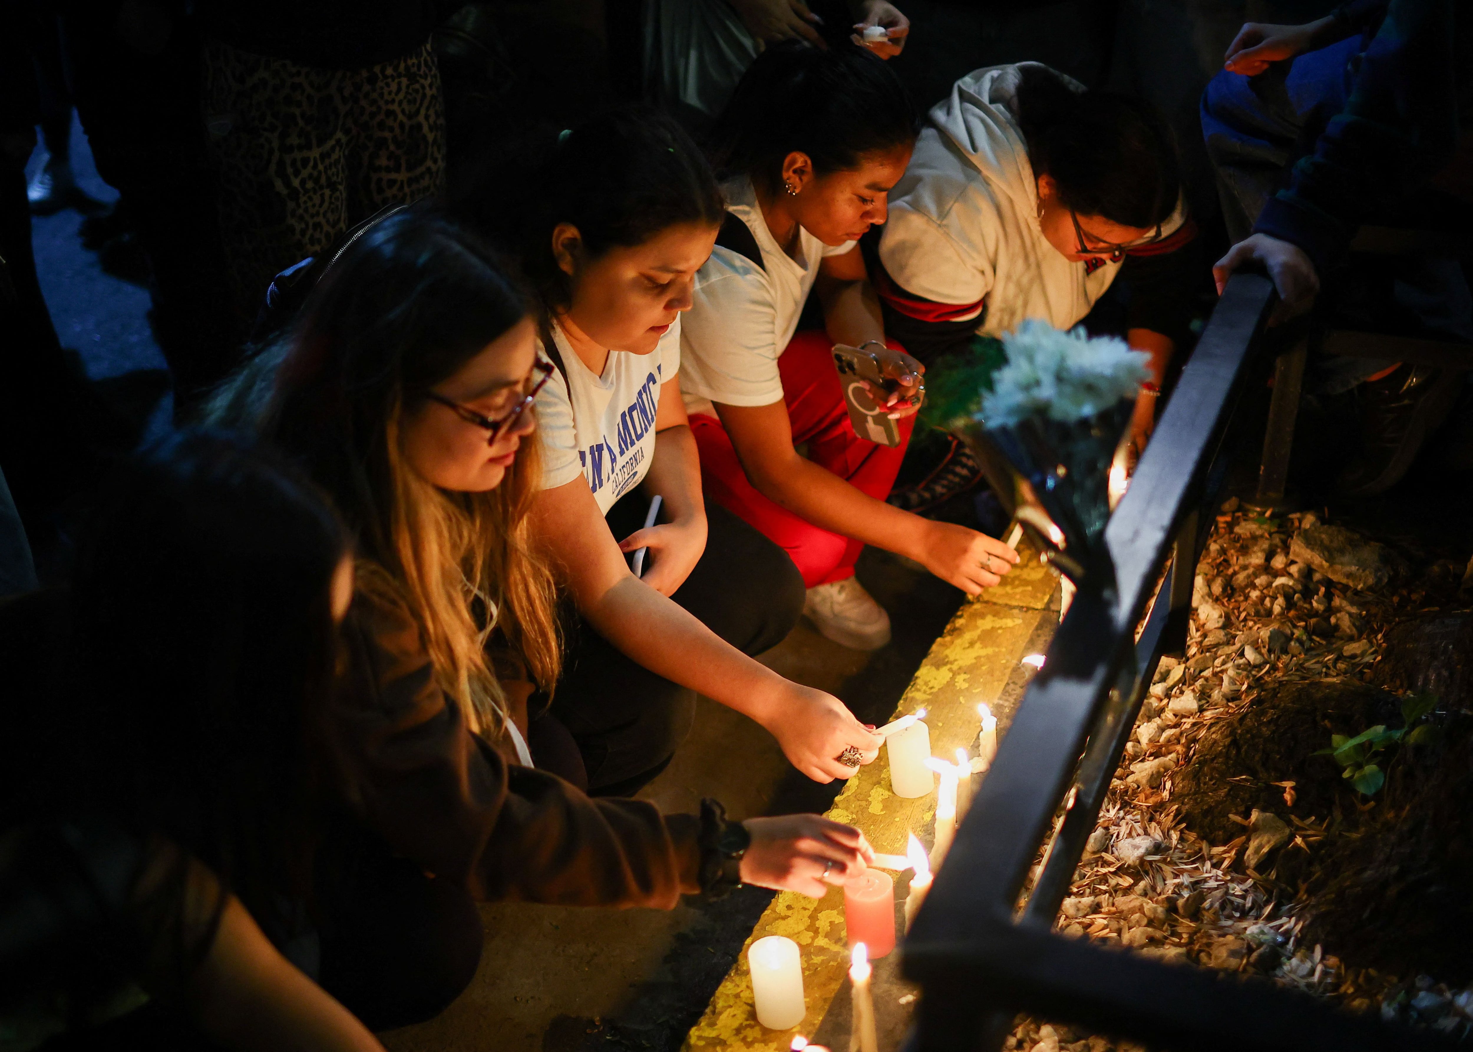
[[[569,277],[552,256],[552,230],[577,227],[598,258],[681,224],[716,227],[720,187],[691,137],[644,106],[610,109],[572,131],[542,131],[499,159],[455,212],[508,249],[544,309],[567,306]]]

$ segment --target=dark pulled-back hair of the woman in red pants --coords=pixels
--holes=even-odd
[[[711,133],[711,159],[722,177],[748,175],[770,193],[792,152],[807,153],[819,175],[848,171],[865,155],[910,146],[919,124],[884,59],[854,44],[788,41],[742,75]]]

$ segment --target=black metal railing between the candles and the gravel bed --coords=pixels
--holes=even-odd
[[[1449,1048],[1267,981],[1052,931],[1156,663],[1186,642],[1223,439],[1273,302],[1261,276],[1228,281],[1111,517],[1108,555],[1059,625],[916,916],[903,962],[922,987],[910,1040],[922,1052],[996,1052],[1019,1011],[1178,1052]]]

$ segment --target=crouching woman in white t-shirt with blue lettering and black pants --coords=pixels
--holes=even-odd
[[[788,634],[803,586],[781,548],[706,502],[681,399],[681,312],[722,214],[700,150],[644,109],[564,131],[518,184],[517,253],[555,367],[536,399],[532,514],[577,609],[552,715],[595,794],[632,794],[669,763],[695,691],[760,722],[818,781],[878,753],[838,698],[748,656]],[[660,520],[645,529],[655,495]]]

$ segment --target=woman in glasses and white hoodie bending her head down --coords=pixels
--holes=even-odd
[[[1171,131],[1146,103],[1036,62],[993,66],[931,109],[890,196],[875,287],[887,330],[934,361],[1025,318],[1078,324],[1121,277],[1127,339],[1153,373],[1140,448],[1187,320],[1175,253],[1195,236]]]

